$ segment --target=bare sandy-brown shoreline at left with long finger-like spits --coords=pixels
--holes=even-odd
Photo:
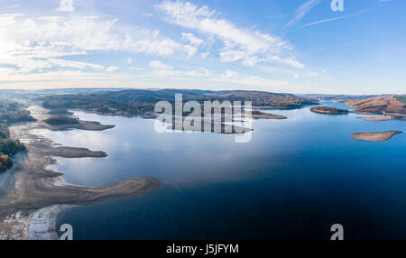
[[[112,198],[134,197],[155,189],[161,182],[152,178],[123,180],[100,188],[74,186],[60,179],[62,173],[51,170],[54,157],[103,158],[106,152],[60,146],[32,129],[44,128],[45,109],[36,108],[38,122],[10,127],[27,152],[20,153],[8,174],[0,198],[0,239],[56,239],[56,216],[67,206],[87,205]]]

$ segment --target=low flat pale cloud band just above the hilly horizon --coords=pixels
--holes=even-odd
[[[196,88],[246,89],[294,92],[303,90],[283,80],[270,80],[256,76],[225,78],[208,73],[207,69],[143,71],[137,74],[84,72],[61,70],[34,74],[8,75],[0,69],[0,88]],[[196,80],[198,78],[198,80]],[[162,84],[161,81],[165,83]],[[182,83],[183,82],[183,83]]]

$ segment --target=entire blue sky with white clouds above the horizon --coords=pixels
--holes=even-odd
[[[2,0],[0,88],[405,94],[406,1],[333,2]]]

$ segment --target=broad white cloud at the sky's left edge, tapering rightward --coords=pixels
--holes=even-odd
[[[161,37],[157,30],[121,26],[116,19],[78,14],[41,17],[0,14],[0,65],[13,66],[15,72],[38,72],[55,67],[105,69],[98,64],[62,59],[87,55],[88,51],[190,56],[197,50]]]

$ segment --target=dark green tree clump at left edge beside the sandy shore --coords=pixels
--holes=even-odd
[[[11,139],[8,127],[5,124],[0,124],[0,173],[11,169],[13,167],[11,157],[24,150],[23,143]]]

